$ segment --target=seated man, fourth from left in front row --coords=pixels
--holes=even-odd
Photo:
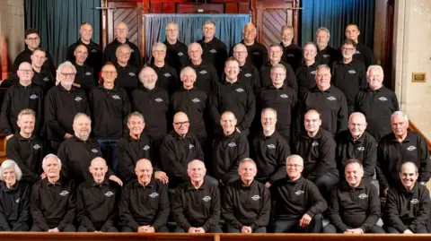
[[[122,232],[168,233],[166,222],[171,207],[166,185],[152,178],[149,159],[136,162],[137,178],[128,183],[121,194],[119,215]]]

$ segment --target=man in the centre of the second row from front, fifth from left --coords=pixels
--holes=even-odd
[[[221,185],[234,182],[240,178],[238,167],[242,159],[249,157],[247,137],[237,132],[236,118],[226,111],[220,118],[223,133],[216,134],[212,145],[214,176]]]

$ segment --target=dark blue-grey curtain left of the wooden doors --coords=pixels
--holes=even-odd
[[[66,51],[79,39],[81,22],[91,22],[92,40],[100,43],[100,0],[25,0],[25,28],[40,32],[40,44],[47,48],[54,63],[66,60]]]

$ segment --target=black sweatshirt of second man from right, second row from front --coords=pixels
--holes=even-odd
[[[364,176],[368,180],[373,179],[375,163],[377,162],[377,142],[370,133],[363,133],[359,139],[353,140],[349,130],[339,133],[336,137],[337,168],[339,176],[345,176],[344,168],[348,159],[358,159],[364,167]]]

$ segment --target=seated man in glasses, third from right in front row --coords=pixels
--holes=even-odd
[[[317,186],[301,176],[303,158],[289,156],[286,172],[286,178],[271,185],[272,200],[276,202],[274,233],[320,233],[321,212],[328,204]]]

